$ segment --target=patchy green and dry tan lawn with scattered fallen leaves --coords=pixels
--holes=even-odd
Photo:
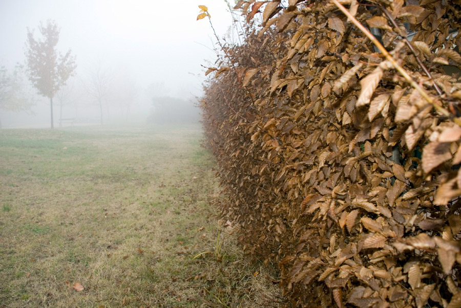
[[[201,138],[0,130],[0,307],[282,306],[276,273],[219,232]]]

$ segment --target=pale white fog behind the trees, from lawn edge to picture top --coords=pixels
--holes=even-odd
[[[27,67],[27,29],[38,38],[40,22],[51,19],[60,28],[57,51],[76,56],[74,76],[53,97],[55,127],[159,118],[153,113],[160,98],[195,103],[205,78],[201,64],[216,59],[213,29],[207,18],[196,20],[198,5],[208,7],[219,36],[229,32],[224,0],[0,0],[0,68],[11,75],[17,64]],[[0,104],[2,127],[49,127],[49,99],[26,74],[19,77],[28,104]],[[99,96],[96,79],[105,84]]]

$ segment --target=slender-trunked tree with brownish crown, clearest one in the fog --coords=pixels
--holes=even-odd
[[[53,128],[53,97],[61,86],[73,75],[75,56],[69,50],[62,55],[56,50],[59,28],[53,20],[38,26],[42,39],[35,39],[33,31],[27,29],[26,60],[29,80],[38,93],[50,99],[51,128]]]

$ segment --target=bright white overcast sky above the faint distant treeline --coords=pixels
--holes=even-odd
[[[27,27],[37,37],[39,22],[53,19],[60,27],[57,49],[76,55],[77,76],[103,59],[128,70],[140,88],[164,82],[171,96],[197,96],[200,64],[216,59],[208,20],[196,20],[198,5],[208,7],[224,35],[232,17],[223,0],[0,0],[0,65],[24,64]]]

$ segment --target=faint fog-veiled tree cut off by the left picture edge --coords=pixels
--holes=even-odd
[[[21,69],[16,66],[14,72],[10,74],[4,66],[0,67],[0,109],[3,111],[25,111],[32,106],[32,99],[26,91]]]

